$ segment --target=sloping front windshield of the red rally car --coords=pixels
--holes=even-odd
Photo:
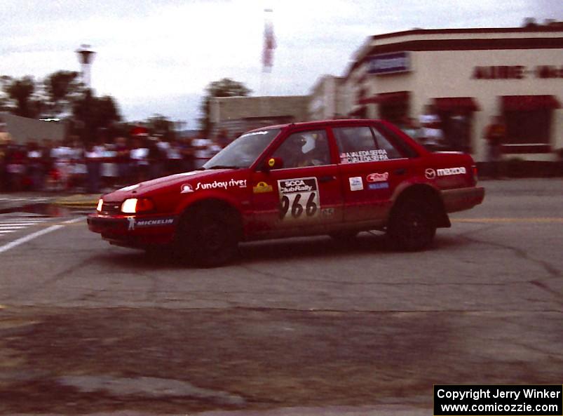
[[[280,133],[279,128],[245,133],[213,156],[203,168],[248,168],[278,133]]]

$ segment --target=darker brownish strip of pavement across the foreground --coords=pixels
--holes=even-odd
[[[429,409],[433,384],[560,382],[561,319],[557,311],[0,309],[0,414]]]

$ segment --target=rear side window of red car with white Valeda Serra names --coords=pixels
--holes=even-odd
[[[378,130],[367,126],[333,128],[340,163],[386,161],[402,157],[398,149]]]

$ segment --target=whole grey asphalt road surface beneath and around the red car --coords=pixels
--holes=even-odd
[[[561,384],[563,180],[482,183],[421,253],[364,233],[196,269],[64,211],[0,234],[0,414],[428,415],[433,384]]]

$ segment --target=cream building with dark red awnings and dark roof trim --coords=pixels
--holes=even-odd
[[[463,119],[463,149],[485,159],[482,132],[506,121],[504,153],[552,161],[563,149],[563,25],[496,29],[413,29],[371,36],[339,79],[311,95],[311,114],[417,119],[433,105],[446,140]],[[327,104],[328,103],[328,104]],[[323,108],[323,106],[325,106]]]

